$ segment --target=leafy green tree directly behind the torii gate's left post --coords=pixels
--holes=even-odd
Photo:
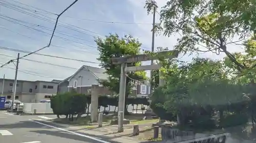
[[[110,61],[111,58],[117,58],[124,55],[136,55],[140,52],[141,43],[138,39],[132,36],[124,36],[119,38],[117,34],[110,34],[106,36],[105,39],[97,38],[95,40],[97,44],[97,49],[99,51],[100,67],[106,70],[106,74],[109,75],[108,80],[100,81],[102,85],[108,87],[115,94],[119,94],[119,83],[120,83],[120,71],[121,65],[113,65]],[[140,62],[127,64],[127,66],[139,66]],[[130,72],[127,73],[126,77],[126,88],[125,88],[125,99],[132,90],[132,80],[142,80],[145,79],[144,71]],[[125,103],[125,113],[127,112]]]

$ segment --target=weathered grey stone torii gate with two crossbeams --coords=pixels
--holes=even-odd
[[[130,55],[124,56],[120,58],[111,58],[111,62],[114,65],[121,64],[121,74],[120,74],[120,88],[119,88],[119,101],[118,101],[118,131],[123,131],[123,117],[124,117],[124,103],[125,103],[125,83],[126,83],[126,75],[125,72],[132,71],[141,71],[141,70],[158,70],[161,68],[161,65],[146,65],[139,67],[127,67],[127,63],[135,63],[135,62],[143,62],[143,61],[151,61],[158,60],[157,55],[165,56],[168,59],[177,58],[179,51],[178,50],[169,50],[169,51],[161,51],[155,52],[156,56],[152,56],[151,54],[138,54],[138,55]],[[159,72],[159,75],[161,73]],[[159,76],[160,78],[160,76]],[[164,84],[163,79],[159,79],[159,86]]]

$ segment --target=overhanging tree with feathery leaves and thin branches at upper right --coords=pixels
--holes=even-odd
[[[145,8],[150,13],[156,5],[156,2],[147,0]],[[225,53],[236,70],[241,72],[256,67],[256,63],[247,67],[238,56],[228,51],[227,46],[241,45],[250,36],[254,37],[255,5],[255,1],[170,0],[161,10],[161,22],[155,28],[165,36],[182,32],[175,48],[184,53]],[[253,52],[256,48],[255,44],[250,46],[246,52]]]

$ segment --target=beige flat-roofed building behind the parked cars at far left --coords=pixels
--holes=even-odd
[[[0,92],[2,93],[4,80],[3,95],[7,100],[12,100],[12,90],[14,85],[13,79],[0,79]],[[17,80],[16,96],[15,99],[29,103],[39,102],[42,99],[50,99],[53,94],[57,93],[57,82],[51,81],[29,81],[29,80]]]

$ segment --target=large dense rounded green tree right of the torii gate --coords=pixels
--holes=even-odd
[[[220,111],[221,119],[223,110],[230,110],[230,106],[238,113],[245,110],[252,92],[226,70],[223,61],[196,58],[189,64],[173,63],[170,67],[165,69],[166,84],[159,103],[173,115],[179,115],[181,124],[188,120],[200,123],[202,115],[207,119],[205,123],[212,123],[214,109]]]

